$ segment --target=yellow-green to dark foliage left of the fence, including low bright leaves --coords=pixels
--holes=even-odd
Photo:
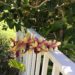
[[[11,47],[10,38],[15,38],[15,32],[9,28],[4,28],[3,25],[7,26],[4,21],[0,22],[0,74],[1,75],[10,75],[11,70],[17,73],[19,70],[23,70],[24,66],[21,63],[18,63],[11,57],[11,52],[9,51]],[[12,61],[11,61],[12,60]],[[15,63],[15,66],[8,64],[11,61],[10,65]],[[12,63],[13,62],[13,63]],[[11,71],[12,75],[13,72]],[[15,74],[14,74],[15,75]]]

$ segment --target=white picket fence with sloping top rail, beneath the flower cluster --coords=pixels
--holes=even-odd
[[[33,29],[28,29],[34,37],[42,38],[37,32]],[[19,39],[24,37],[22,32],[17,32],[17,37]],[[41,58],[43,56],[43,58]],[[43,63],[41,64],[41,60]],[[20,73],[20,75],[47,75],[48,71],[48,62],[49,60],[53,63],[52,74],[51,75],[75,75],[75,63],[67,58],[62,52],[58,49],[49,52],[41,52],[37,55],[32,51],[31,53],[26,53],[23,56],[23,64],[26,66],[26,71]],[[41,71],[41,72],[40,72]]]

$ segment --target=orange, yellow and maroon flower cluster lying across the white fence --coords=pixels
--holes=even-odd
[[[57,48],[61,43],[56,40],[43,40],[41,38],[36,38],[31,36],[29,33],[22,40],[15,41],[11,39],[13,42],[13,47],[11,48],[12,52],[18,57],[20,54],[24,54],[27,51],[34,50],[35,53],[39,53],[42,51],[47,52],[50,49]]]

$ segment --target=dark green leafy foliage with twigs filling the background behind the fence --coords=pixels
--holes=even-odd
[[[61,50],[64,53],[65,50],[68,54],[71,50],[74,52],[75,1],[42,2],[43,0],[1,0],[0,20],[7,22],[10,28],[15,26],[17,31],[21,30],[21,26],[32,27],[48,39],[61,40]]]

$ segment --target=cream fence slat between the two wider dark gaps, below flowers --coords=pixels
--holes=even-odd
[[[47,75],[48,61],[49,61],[49,58],[47,56],[47,53],[44,53],[41,75]]]

